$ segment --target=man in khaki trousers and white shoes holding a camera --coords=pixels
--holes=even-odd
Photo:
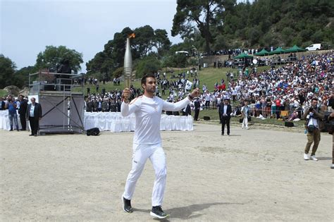
[[[305,129],[307,130],[307,144],[304,152],[304,160],[314,160],[316,159],[316,149],[318,149],[318,144],[321,140],[320,131],[323,129],[323,113],[319,113],[318,108],[318,99],[311,99],[311,107],[307,109],[303,115],[305,119]],[[309,149],[311,144],[313,144],[311,156],[309,156]]]

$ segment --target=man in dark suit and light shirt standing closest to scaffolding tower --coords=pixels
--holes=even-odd
[[[30,99],[31,104],[27,106],[27,112],[25,113],[25,117],[29,120],[31,134],[30,136],[37,137],[37,130],[39,128],[39,121],[42,118],[42,106],[36,102],[36,99],[32,97]]]

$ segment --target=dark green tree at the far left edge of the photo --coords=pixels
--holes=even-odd
[[[16,81],[16,65],[10,58],[0,54],[0,88],[3,89],[8,85],[14,85]]]

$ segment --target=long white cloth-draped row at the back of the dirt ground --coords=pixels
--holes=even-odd
[[[135,130],[135,115],[123,117],[116,112],[85,112],[85,130],[99,128],[101,131],[130,132]],[[21,128],[20,116],[18,125]],[[13,124],[15,129],[15,124]],[[29,123],[27,123],[29,127]],[[0,129],[10,130],[8,110],[0,111]],[[161,115],[160,130],[193,130],[192,116],[168,116]]]

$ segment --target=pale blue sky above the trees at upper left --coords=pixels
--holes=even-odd
[[[0,0],[0,54],[17,69],[34,66],[46,46],[66,46],[83,54],[85,63],[124,27],[150,25],[171,37],[176,0]]]

